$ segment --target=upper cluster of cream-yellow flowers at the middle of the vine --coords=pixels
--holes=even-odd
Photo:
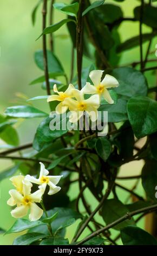
[[[100,107],[101,97],[109,104],[113,104],[114,101],[107,89],[119,86],[119,82],[116,78],[110,75],[106,75],[101,81],[103,72],[103,70],[91,71],[89,77],[93,85],[87,82],[81,90],[77,90],[74,88],[73,84],[69,84],[65,92],[58,92],[55,84],[54,93],[58,95],[49,96],[48,102],[61,101],[56,107],[56,113],[63,114],[69,109],[71,112],[69,121],[71,123],[78,121],[84,111],[89,114],[91,121],[95,121],[97,119],[97,109]],[[88,99],[84,99],[84,94],[94,95],[90,96]]]

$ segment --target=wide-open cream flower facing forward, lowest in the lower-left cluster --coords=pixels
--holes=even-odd
[[[25,179],[22,181],[22,183],[22,194],[17,190],[9,191],[12,199],[8,200],[8,205],[17,205],[16,208],[11,211],[11,216],[14,218],[22,218],[27,215],[28,210],[30,209],[29,220],[36,221],[43,215],[43,210],[35,204],[41,202],[43,190],[40,189],[31,194],[32,184]]]

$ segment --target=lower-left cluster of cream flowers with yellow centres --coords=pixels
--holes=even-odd
[[[42,196],[45,192],[47,185],[50,187],[48,194],[55,194],[61,190],[61,187],[57,187],[56,184],[60,181],[62,176],[50,176],[49,171],[45,169],[44,164],[41,163],[40,176],[38,179],[30,175],[17,175],[10,180],[16,187],[14,190],[10,190],[10,198],[8,205],[15,206],[16,208],[11,211],[11,215],[14,218],[22,218],[29,214],[30,221],[36,221],[43,215],[43,210],[36,204],[40,203]],[[38,184],[38,190],[31,193],[32,183]]]

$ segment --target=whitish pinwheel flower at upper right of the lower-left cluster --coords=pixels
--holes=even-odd
[[[40,170],[40,176],[38,179],[36,179],[34,176],[26,175],[25,180],[40,185],[39,188],[42,188],[43,191],[45,191],[46,186],[48,185],[50,187],[50,190],[48,192],[49,195],[55,194],[58,191],[61,190],[61,187],[57,187],[56,184],[60,181],[61,176],[49,176],[49,171],[45,169],[45,166],[43,163],[41,163],[41,170]]]

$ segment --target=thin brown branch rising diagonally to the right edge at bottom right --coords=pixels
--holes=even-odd
[[[82,245],[82,243],[87,242],[88,240],[90,240],[91,238],[101,234],[102,232],[115,227],[115,225],[126,221],[126,220],[130,220],[130,218],[132,218],[134,215],[138,215],[141,214],[142,212],[151,212],[151,211],[155,211],[157,210],[157,204],[145,207],[145,208],[141,208],[138,209],[136,211],[132,211],[132,212],[128,212],[127,214],[125,214],[124,216],[122,216],[121,218],[118,218],[116,221],[108,224],[106,227],[104,228],[100,228],[99,230],[96,230],[93,234],[87,236],[86,238],[84,238],[83,240],[81,240],[80,242],[77,243],[77,245]]]

